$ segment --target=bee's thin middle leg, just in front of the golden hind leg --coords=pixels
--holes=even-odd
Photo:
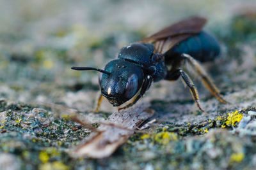
[[[199,97],[198,97],[198,92],[196,90],[196,87],[193,83],[193,81],[191,80],[191,78],[189,78],[188,74],[186,74],[184,71],[182,71],[181,69],[179,70],[180,76],[182,77],[182,79],[184,80],[184,82],[186,83],[186,85],[188,85],[189,90],[193,96],[193,99],[196,103],[196,106],[198,107],[198,109],[200,111],[202,111],[203,113],[205,112],[204,110],[202,110],[201,106],[200,106],[200,102],[199,102]]]

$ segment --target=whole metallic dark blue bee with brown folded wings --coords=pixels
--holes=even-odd
[[[182,70],[184,62],[200,76],[213,96],[222,103],[227,103],[198,62],[212,61],[220,53],[220,45],[216,39],[202,31],[205,22],[205,18],[191,17],[125,46],[118,53],[118,58],[110,61],[104,70],[93,67],[72,69],[96,70],[101,73],[101,95],[96,111],[99,111],[103,96],[113,106],[120,106],[131,99],[130,103],[118,109],[122,110],[135,104],[149,89],[152,81],[174,81],[181,76],[188,85],[198,109],[204,112],[193,81]]]

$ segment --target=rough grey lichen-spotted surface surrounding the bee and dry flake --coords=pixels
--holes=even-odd
[[[26,2],[26,3],[24,3]],[[254,169],[256,166],[256,13],[253,1],[3,1],[0,5],[1,169]],[[186,11],[186,12],[184,12]],[[72,158],[90,130],[70,119],[78,111],[94,127],[116,111],[103,101],[92,113],[97,73],[118,49],[190,15],[223,53],[204,64],[221,104],[191,74],[207,114],[182,82],[154,83],[138,104],[156,122],[136,131],[106,159]],[[149,121],[149,120],[148,120]]]

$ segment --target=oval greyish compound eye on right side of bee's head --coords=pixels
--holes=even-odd
[[[137,92],[138,89],[138,76],[136,74],[132,74],[126,83],[125,86],[125,94],[124,96],[127,99],[131,99]]]

